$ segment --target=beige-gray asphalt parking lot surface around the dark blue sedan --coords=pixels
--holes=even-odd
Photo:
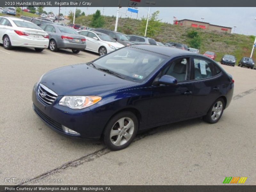
[[[59,135],[32,109],[32,87],[42,74],[97,54],[1,45],[0,56],[1,185],[20,184],[6,177],[61,179],[54,184],[64,185],[221,185],[225,177],[248,177],[243,185],[256,185],[255,70],[222,66],[235,90],[217,124],[198,118],[157,127],[114,152],[100,141]]]

